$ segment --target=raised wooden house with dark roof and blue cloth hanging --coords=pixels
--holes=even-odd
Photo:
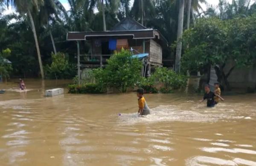
[[[77,41],[78,70],[104,67],[114,51],[122,48],[143,57],[143,75],[150,76],[154,66],[162,66],[163,47],[167,41],[156,29],[148,29],[131,18],[125,18],[111,31],[67,32],[67,40]],[[90,43],[87,54],[80,54],[79,41]]]

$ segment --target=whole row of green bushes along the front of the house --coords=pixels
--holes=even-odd
[[[104,93],[107,89],[127,92],[135,86],[146,93],[171,93],[174,89],[186,86],[187,78],[167,68],[157,68],[151,77],[141,76],[142,62],[131,57],[131,52],[122,49],[108,60],[105,69],[93,69],[94,82],[70,85],[70,93]],[[91,77],[91,76],[90,76]]]

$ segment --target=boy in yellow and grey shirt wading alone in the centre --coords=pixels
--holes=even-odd
[[[150,114],[150,109],[147,105],[145,98],[143,97],[144,89],[140,88],[137,90],[138,104],[139,104],[139,116]]]

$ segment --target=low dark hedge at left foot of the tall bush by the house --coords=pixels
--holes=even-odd
[[[103,89],[97,83],[87,83],[83,85],[69,85],[68,92],[73,94],[101,94],[104,93]]]

